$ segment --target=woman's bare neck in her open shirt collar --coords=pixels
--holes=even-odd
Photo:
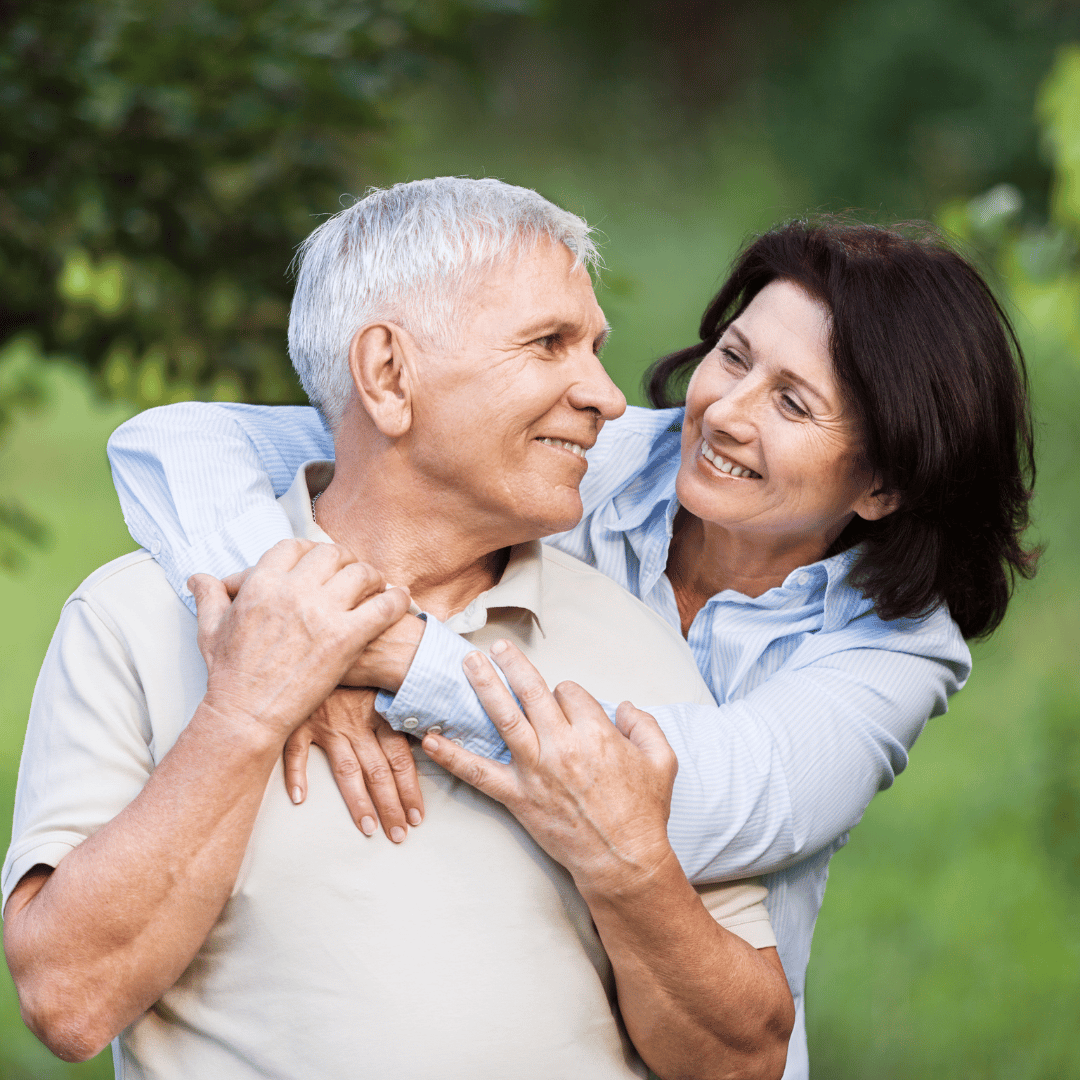
[[[784,583],[792,570],[823,553],[805,544],[777,545],[760,534],[742,534],[694,517],[679,508],[667,550],[667,580],[678,605],[683,636],[710,597],[726,589],[760,596]]]

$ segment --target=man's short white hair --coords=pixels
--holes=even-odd
[[[501,180],[440,176],[372,188],[297,252],[288,354],[308,397],[336,430],[359,329],[392,322],[421,348],[453,351],[463,301],[492,267],[548,239],[593,268],[591,233],[576,214]]]

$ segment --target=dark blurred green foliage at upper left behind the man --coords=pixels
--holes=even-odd
[[[0,321],[112,395],[300,400],[286,266],[388,106],[499,0],[39,0],[0,13]]]

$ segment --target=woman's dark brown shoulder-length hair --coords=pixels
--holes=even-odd
[[[698,362],[770,282],[791,281],[832,313],[831,352],[862,451],[900,508],[855,517],[829,554],[862,543],[852,583],[885,619],[941,603],[964,637],[1004,617],[1035,483],[1027,372],[1008,316],[980,273],[932,226],[824,218],[758,237],[701,320],[701,343],[646,375],[658,407],[685,401]]]

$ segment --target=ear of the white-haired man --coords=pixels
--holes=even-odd
[[[356,395],[372,422],[387,438],[400,438],[413,426],[411,337],[393,323],[373,323],[349,345],[349,369]]]

